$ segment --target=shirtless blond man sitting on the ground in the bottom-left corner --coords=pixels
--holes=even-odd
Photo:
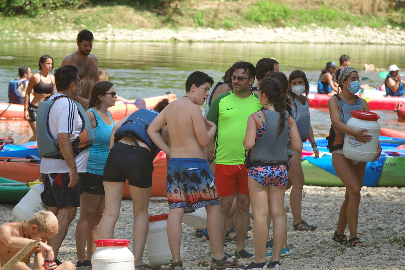
[[[58,233],[58,219],[50,211],[39,211],[30,220],[4,223],[0,227],[0,266],[9,261],[26,244],[39,237],[41,242],[38,243],[38,246],[28,252],[13,267],[13,270],[29,270],[30,257],[34,253],[34,269],[44,269],[45,253],[47,253],[48,259],[51,261],[54,259],[52,247],[47,244],[47,240],[56,233]],[[75,265],[70,261],[66,261],[59,266],[56,266],[56,263],[53,262],[51,268],[59,270],[76,269]]]

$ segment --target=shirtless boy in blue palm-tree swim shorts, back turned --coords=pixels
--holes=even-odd
[[[207,228],[213,255],[211,270],[243,267],[224,256],[221,206],[213,173],[205,159],[204,147],[213,140],[217,127],[203,117],[198,106],[208,98],[213,83],[213,79],[203,72],[190,74],[185,82],[183,98],[169,103],[147,130],[156,146],[171,157],[166,185],[169,203],[167,237],[173,257],[172,270],[184,270],[180,258],[183,214],[200,207],[207,210]],[[159,133],[166,123],[171,147]]]

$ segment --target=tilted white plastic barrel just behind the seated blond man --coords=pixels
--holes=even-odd
[[[14,206],[13,216],[19,221],[32,218],[35,213],[41,210],[48,210],[42,203],[41,193],[44,191],[44,184],[33,185],[30,191]]]

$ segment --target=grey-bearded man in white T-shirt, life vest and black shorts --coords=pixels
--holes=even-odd
[[[58,68],[55,84],[58,93],[38,105],[36,131],[44,182],[41,199],[59,221],[58,233],[48,241],[59,265],[60,245],[80,207],[81,173],[86,172],[94,133],[84,109],[72,100],[81,94],[79,70],[73,65]]]

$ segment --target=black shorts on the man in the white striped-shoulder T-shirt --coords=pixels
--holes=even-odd
[[[74,187],[68,187],[70,176],[68,172],[43,173],[44,192],[41,193],[42,203],[49,207],[66,206],[80,207],[80,186],[82,173],[79,172],[79,182]]]

